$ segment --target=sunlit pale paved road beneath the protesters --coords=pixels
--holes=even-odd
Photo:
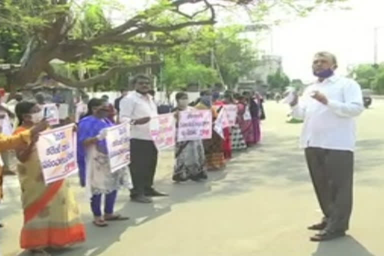
[[[162,153],[157,187],[170,193],[154,204],[128,201],[117,209],[131,221],[104,229],[90,224],[88,204],[76,189],[87,226],[85,244],[54,255],[140,256],[371,256],[384,255],[384,101],[376,101],[358,120],[354,211],[350,236],[312,243],[307,224],[320,212],[302,152],[300,124],[284,123],[286,108],[268,102],[262,144],[236,155],[224,171],[205,183],[172,184],[172,156]],[[21,211],[17,182],[6,177],[0,205],[3,255],[26,255],[18,248]]]

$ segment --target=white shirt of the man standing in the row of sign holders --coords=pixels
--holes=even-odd
[[[157,116],[157,107],[149,94],[142,95],[136,91],[130,92],[120,100],[120,122],[127,119]],[[131,138],[152,140],[149,132],[149,122],[131,125]]]

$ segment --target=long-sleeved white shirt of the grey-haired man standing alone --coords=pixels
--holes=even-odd
[[[323,93],[328,104],[311,97]],[[309,85],[292,108],[292,116],[304,120],[300,147],[353,151],[356,141],[355,118],[364,109],[360,85],[352,79],[333,75]]]

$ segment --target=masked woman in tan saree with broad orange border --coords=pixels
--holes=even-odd
[[[41,109],[32,102],[18,103],[15,112],[19,126],[14,134],[30,129],[42,119]],[[24,212],[20,246],[35,254],[49,255],[47,248],[83,242],[85,228],[69,183],[63,179],[45,185],[35,142],[36,139],[16,150]]]

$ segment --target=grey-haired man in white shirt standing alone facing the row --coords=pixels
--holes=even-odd
[[[323,212],[321,222],[308,227],[320,230],[312,241],[344,236],[352,209],[354,118],[364,106],[360,86],[335,75],[336,68],[333,54],[316,53],[312,69],[318,80],[290,103],[292,116],[304,121],[300,146]]]

